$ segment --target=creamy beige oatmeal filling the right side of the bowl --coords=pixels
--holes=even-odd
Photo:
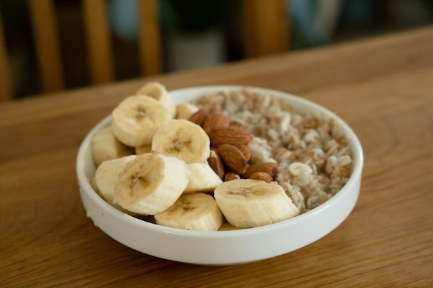
[[[329,200],[349,180],[351,151],[335,119],[248,89],[203,95],[194,104],[211,115],[225,114],[254,136],[249,164],[275,163],[275,181],[301,213]]]

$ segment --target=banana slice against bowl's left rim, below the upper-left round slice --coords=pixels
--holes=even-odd
[[[111,126],[102,128],[91,140],[93,160],[98,166],[103,161],[131,155],[133,148],[122,144],[111,131]]]

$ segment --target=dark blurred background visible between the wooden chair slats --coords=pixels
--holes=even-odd
[[[248,0],[247,0],[248,1]],[[262,0],[273,1],[273,0]],[[433,0],[290,0],[288,52],[433,23]],[[252,57],[245,49],[241,0],[158,0],[162,73]],[[42,93],[28,0],[0,0],[13,97]],[[56,0],[66,88],[91,85],[79,0]],[[135,0],[107,0],[116,80],[141,77]],[[433,37],[433,35],[432,35]]]

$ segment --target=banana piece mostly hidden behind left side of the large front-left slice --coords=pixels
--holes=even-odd
[[[95,171],[95,184],[102,198],[109,204],[114,201],[114,185],[120,172],[125,168],[125,165],[133,160],[136,155],[129,155],[113,160],[104,161],[98,166]]]

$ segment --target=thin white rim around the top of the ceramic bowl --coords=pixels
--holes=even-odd
[[[111,115],[107,115],[103,119],[98,122],[91,130],[86,134],[84,137],[84,140],[80,144],[80,148],[77,153],[77,159],[76,159],[76,173],[78,182],[83,185],[84,193],[86,193],[87,196],[89,196],[94,202],[98,202],[98,204],[102,205],[102,207],[107,210],[107,212],[112,213],[113,215],[116,215],[117,217],[123,217],[131,222],[131,224],[137,225],[139,227],[142,227],[143,229],[151,229],[153,231],[157,231],[160,233],[168,233],[168,234],[176,234],[176,235],[182,235],[192,238],[227,238],[227,237],[234,237],[236,236],[253,236],[257,233],[270,233],[271,231],[282,229],[283,227],[290,227],[293,224],[296,224],[297,222],[302,222],[306,218],[311,218],[313,215],[317,213],[322,213],[322,211],[329,209],[329,207],[333,206],[334,202],[339,202],[341,198],[344,198],[344,195],[349,193],[349,190],[351,189],[351,186],[356,184],[358,179],[360,179],[362,175],[362,169],[363,169],[363,163],[364,163],[364,155],[362,151],[362,145],[360,143],[360,140],[358,140],[358,137],[356,133],[352,130],[352,128],[344,122],[344,120],[335,114],[333,111],[330,111],[328,108],[325,108],[324,106],[321,106],[320,104],[317,104],[315,102],[312,102],[309,99],[306,99],[304,97],[300,97],[297,95],[293,95],[291,93],[286,93],[284,91],[280,90],[273,90],[269,88],[260,88],[256,86],[247,86],[247,85],[211,85],[211,86],[192,86],[192,87],[185,87],[185,88],[179,88],[174,90],[169,90],[168,93],[170,95],[176,94],[176,93],[185,93],[185,92],[191,92],[192,96],[191,99],[195,99],[199,95],[196,95],[197,91],[201,91],[201,95],[205,95],[206,93],[218,93],[219,91],[227,90],[240,90],[242,88],[248,88],[248,90],[252,92],[257,93],[267,93],[271,96],[277,96],[279,98],[287,99],[290,104],[293,104],[293,102],[296,102],[296,104],[302,104],[302,106],[312,106],[315,111],[319,111],[321,115],[326,115],[326,117],[333,117],[337,120],[338,125],[342,126],[344,128],[344,132],[347,133],[349,137],[350,145],[353,148],[351,148],[351,154],[352,154],[352,171],[351,176],[349,177],[349,180],[346,184],[338,191],[338,193],[335,193],[332,198],[329,200],[326,200],[326,202],[320,204],[319,206],[315,207],[314,209],[311,209],[310,211],[306,211],[305,213],[302,213],[300,215],[297,215],[293,218],[290,218],[288,220],[283,220],[281,222],[273,223],[273,224],[267,224],[261,227],[252,227],[252,228],[246,228],[246,229],[235,229],[235,230],[227,230],[227,231],[191,231],[191,230],[185,230],[185,229],[178,229],[178,228],[172,228],[172,227],[164,227],[162,225],[154,224],[151,222],[147,222],[145,220],[141,220],[139,218],[133,217],[132,215],[129,215],[127,213],[124,213],[115,207],[112,207],[109,203],[107,203],[102,197],[91,187],[91,184],[89,182],[89,178],[86,176],[84,172],[84,152],[87,148],[89,148],[89,145],[91,144],[91,136],[94,135],[94,133],[104,126],[108,126],[109,122],[111,120]],[[205,92],[203,92],[205,91]],[[178,103],[187,102],[185,99],[180,99]],[[293,105],[296,106],[296,105]]]

